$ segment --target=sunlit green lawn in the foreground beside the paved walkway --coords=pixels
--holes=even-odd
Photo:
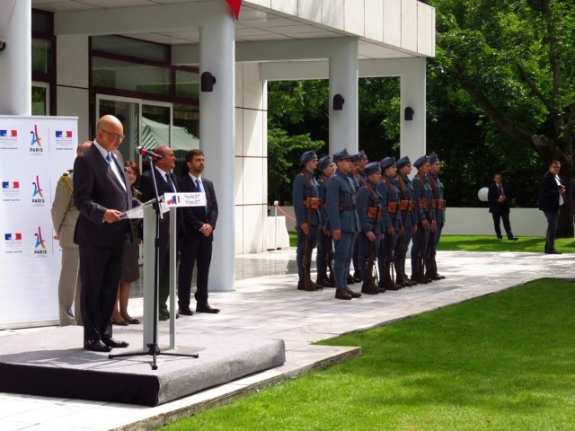
[[[363,355],[163,429],[575,429],[573,310],[543,279],[332,339]]]

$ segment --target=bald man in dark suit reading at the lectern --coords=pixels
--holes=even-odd
[[[124,160],[118,146],[124,139],[119,119],[105,115],[96,138],[74,163],[74,203],[80,212],[75,242],[80,251],[84,348],[110,352],[128,347],[112,338],[111,313],[118,294],[124,242],[131,241],[129,222],[120,218],[132,206]]]

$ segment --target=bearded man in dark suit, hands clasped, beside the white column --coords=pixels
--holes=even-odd
[[[208,304],[208,275],[212,261],[212,242],[217,222],[217,200],[212,181],[201,176],[205,159],[201,150],[186,153],[189,173],[180,179],[181,192],[206,193],[206,207],[184,207],[184,234],[180,240],[180,269],[178,271],[178,305],[180,314],[191,316],[190,291],[194,264],[198,265],[196,312],[219,312]]]

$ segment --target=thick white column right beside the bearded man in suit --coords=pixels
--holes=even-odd
[[[214,182],[219,216],[209,270],[209,290],[234,290],[234,17],[226,2],[199,28],[199,74],[216,77],[213,92],[199,92],[199,145],[205,175]],[[215,305],[217,306],[217,304]]]

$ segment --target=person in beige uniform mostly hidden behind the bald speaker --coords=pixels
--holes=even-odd
[[[91,142],[86,141],[76,148],[76,154],[84,153]],[[75,222],[78,210],[74,206],[73,178],[74,172],[68,170],[57,181],[56,193],[52,202],[52,224],[56,238],[62,248],[62,269],[57,285],[58,307],[60,312],[60,325],[82,325],[80,312],[80,255],[78,246],[74,243]],[[72,312],[74,303],[74,312]]]

